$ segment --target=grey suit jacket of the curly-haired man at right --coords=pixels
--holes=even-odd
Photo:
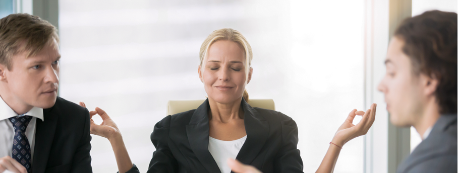
[[[457,115],[442,115],[428,137],[398,166],[397,172],[458,172],[457,119]]]

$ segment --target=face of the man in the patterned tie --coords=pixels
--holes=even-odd
[[[4,69],[4,74],[16,103],[43,109],[54,106],[61,58],[57,45],[53,40],[35,56],[27,57],[25,52],[13,56],[11,69]]]

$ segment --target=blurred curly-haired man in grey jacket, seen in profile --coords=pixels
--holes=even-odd
[[[388,46],[384,93],[390,121],[414,126],[423,141],[397,172],[457,172],[457,15],[406,19]]]

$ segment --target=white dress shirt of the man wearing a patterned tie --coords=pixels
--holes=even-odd
[[[43,109],[33,107],[29,112],[24,115],[32,116],[32,119],[27,126],[25,136],[29,140],[30,154],[35,148],[35,131],[37,118],[44,121]],[[0,98],[0,158],[13,155],[13,140],[14,140],[14,127],[9,118],[18,116],[13,109],[8,106],[3,99]],[[33,159],[31,159],[33,161]],[[32,163],[32,161],[30,163]]]

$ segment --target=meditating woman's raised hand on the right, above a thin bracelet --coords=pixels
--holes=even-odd
[[[367,110],[366,112],[357,111],[354,109],[352,112],[350,112],[347,120],[345,120],[345,122],[343,122],[343,124],[338,128],[334,138],[332,139],[332,143],[342,147],[348,141],[358,136],[365,135],[374,123],[376,110],[377,104],[375,103],[372,104],[371,109]],[[356,115],[362,115],[363,118],[357,125],[353,125],[353,119],[355,119]]]

